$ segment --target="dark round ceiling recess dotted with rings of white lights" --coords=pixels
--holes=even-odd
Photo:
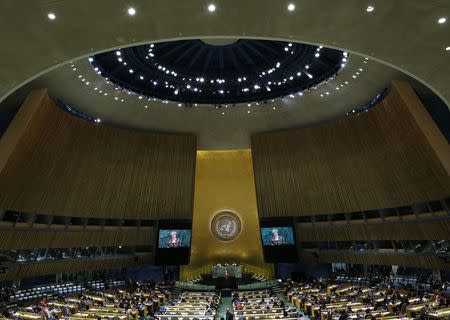
[[[170,41],[89,58],[117,86],[147,98],[217,106],[298,94],[337,74],[348,53],[301,43]]]

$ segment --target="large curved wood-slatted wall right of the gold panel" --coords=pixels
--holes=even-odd
[[[326,103],[326,102],[324,102]],[[450,148],[404,82],[378,106],[252,136],[260,217],[391,208],[450,195]]]

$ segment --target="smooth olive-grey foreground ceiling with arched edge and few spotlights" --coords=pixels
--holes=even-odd
[[[204,1],[4,1],[0,38],[8,50],[0,53],[0,99],[55,65],[112,48],[175,38],[249,37],[370,56],[413,75],[448,104],[449,24],[438,23],[448,15],[448,1],[315,0],[293,2],[294,10],[272,0],[214,4],[216,10],[209,12]],[[134,15],[127,13],[130,5]]]

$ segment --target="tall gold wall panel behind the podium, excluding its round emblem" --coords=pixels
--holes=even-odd
[[[241,233],[232,241],[218,240],[210,229],[213,216],[222,210],[241,220]],[[250,150],[197,151],[191,258],[181,268],[181,278],[193,278],[225,262],[273,275],[273,266],[263,258]]]

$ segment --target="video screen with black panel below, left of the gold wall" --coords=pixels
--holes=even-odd
[[[191,238],[192,221],[159,221],[156,246],[156,264],[188,264],[191,254]]]

